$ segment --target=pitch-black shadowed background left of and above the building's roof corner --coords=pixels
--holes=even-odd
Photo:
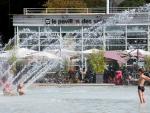
[[[23,14],[23,8],[41,7],[45,0],[1,0],[0,37],[3,45],[14,35],[13,14]]]

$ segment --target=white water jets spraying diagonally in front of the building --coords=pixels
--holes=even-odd
[[[84,45],[102,45],[104,42],[102,40],[99,40],[103,38],[103,35],[100,35],[103,33],[103,28],[105,26],[110,25],[116,25],[116,24],[127,24],[127,23],[133,23],[136,22],[136,18],[138,17],[138,14],[140,13],[147,13],[150,12],[150,4],[147,4],[143,7],[139,7],[137,9],[132,9],[130,11],[124,11],[120,14],[116,14],[113,17],[109,17],[108,19],[103,19],[100,22],[96,23],[92,27],[83,29],[86,34],[83,35],[83,37],[86,37],[87,40],[81,40],[82,34],[81,33],[66,33],[66,35],[63,37],[64,39],[67,37],[73,37],[73,39],[70,40],[63,40],[62,37],[59,35],[53,35],[52,33],[49,34],[42,34],[43,36],[48,37],[47,39],[43,39],[41,42],[42,44],[49,45],[48,47],[43,47],[42,50],[46,52],[51,52],[52,54],[56,55],[57,59],[47,59],[46,61],[40,60],[35,61],[35,59],[30,59],[30,62],[28,64],[24,65],[22,69],[16,73],[15,76],[12,76],[10,73],[10,70],[13,68],[13,66],[19,61],[19,59],[16,59],[14,62],[12,62],[9,66],[6,68],[3,68],[1,73],[1,77],[8,75],[9,80],[12,84],[15,85],[15,87],[18,85],[18,83],[23,82],[25,83],[25,87],[30,86],[32,83],[34,83],[37,79],[44,76],[48,71],[51,71],[52,69],[57,68],[57,66],[62,62],[64,59],[70,57],[70,50],[76,51],[77,48],[74,45],[77,43],[78,45],[81,45],[82,43]],[[30,29],[23,29],[22,32],[32,32]],[[51,31],[51,29],[44,29],[44,32]],[[93,34],[89,34],[88,32],[93,32]],[[121,33],[117,34],[121,37]],[[29,35],[27,39],[22,39],[20,45],[28,44],[28,40],[36,38],[38,34]],[[106,39],[111,37],[111,34],[108,34],[106,36]],[[59,38],[63,44],[60,44],[60,41],[57,40]],[[93,40],[94,38],[97,38],[98,40]],[[11,43],[15,40],[15,38],[11,39],[9,43],[3,48],[3,50],[6,50],[8,45],[11,45]],[[30,49],[34,50],[36,46],[34,46],[34,41],[32,42],[32,45]],[[60,44],[60,46],[56,46]],[[38,51],[37,51],[38,52]],[[65,54],[63,54],[65,53]],[[34,53],[33,53],[34,54]],[[32,55],[33,55],[32,54]],[[76,55],[77,52],[72,52],[72,54]],[[30,55],[29,55],[30,56]],[[61,59],[61,60],[60,60]],[[7,62],[7,61],[6,61]],[[3,67],[3,63],[0,63],[0,66]],[[4,74],[2,74],[4,73]]]

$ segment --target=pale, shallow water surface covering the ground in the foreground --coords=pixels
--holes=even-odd
[[[2,92],[1,92],[2,93]],[[30,87],[24,96],[0,95],[1,113],[149,113],[140,105],[136,86],[51,86]]]

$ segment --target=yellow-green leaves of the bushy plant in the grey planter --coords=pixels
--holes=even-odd
[[[88,56],[88,63],[92,70],[96,73],[103,73],[105,69],[105,58],[104,52],[100,51],[98,53],[93,52]]]

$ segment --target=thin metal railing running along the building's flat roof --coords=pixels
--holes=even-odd
[[[129,11],[129,10],[138,10],[139,7],[110,7],[110,13],[120,13],[122,11]],[[74,14],[74,13],[92,13],[92,14],[104,14],[106,13],[106,8],[24,8],[24,14]]]

